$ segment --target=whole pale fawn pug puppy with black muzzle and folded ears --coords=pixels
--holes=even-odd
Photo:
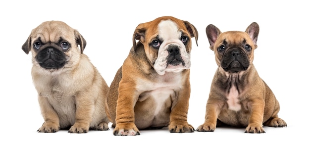
[[[22,46],[32,53],[31,74],[44,118],[38,132],[108,130],[108,86],[83,53],[85,46],[80,33],[61,21],[43,22]]]

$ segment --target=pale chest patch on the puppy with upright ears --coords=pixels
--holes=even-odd
[[[234,110],[234,111],[241,110],[241,104],[239,103],[238,96],[239,96],[238,90],[236,89],[235,86],[232,86],[227,95],[228,109]]]

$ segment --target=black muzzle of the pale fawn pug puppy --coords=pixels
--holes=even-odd
[[[61,68],[64,66],[65,60],[65,54],[54,47],[46,47],[36,56],[36,61],[45,69]]]

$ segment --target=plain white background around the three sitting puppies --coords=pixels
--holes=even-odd
[[[5,2],[4,2],[5,1]],[[260,2],[263,1],[263,2]],[[0,140],[282,140],[307,138],[309,126],[309,4],[307,0],[2,0],[0,2]],[[265,134],[245,134],[244,128],[217,128],[213,133],[169,133],[167,129],[140,131],[140,136],[113,136],[109,131],[87,134],[37,133],[43,118],[31,78],[31,53],[21,49],[33,28],[47,20],[61,20],[87,41],[84,53],[108,85],[132,47],[139,23],[159,16],[191,22],[199,32],[193,40],[188,122],[203,124],[210,82],[216,69],[205,29],[214,24],[222,32],[260,27],[254,64],[269,85],[288,126],[264,127]],[[307,115],[307,116],[306,116]]]

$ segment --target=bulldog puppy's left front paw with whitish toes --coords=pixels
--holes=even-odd
[[[136,125],[132,122],[130,123],[119,123],[116,124],[113,135],[115,136],[136,136],[140,135],[140,132]]]

